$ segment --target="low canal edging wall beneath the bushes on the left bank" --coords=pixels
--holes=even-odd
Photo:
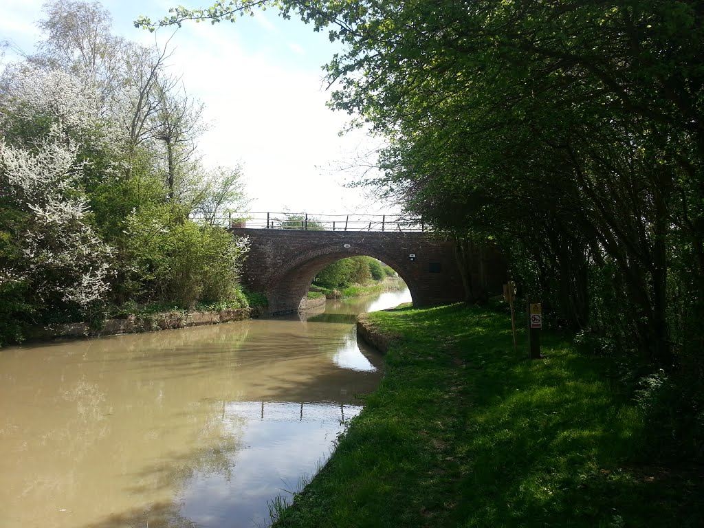
[[[27,341],[46,341],[61,337],[96,337],[115,334],[139,334],[155,330],[217,325],[220,322],[241,321],[262,315],[262,308],[234,308],[232,310],[189,312],[172,310],[155,313],[149,317],[137,318],[134,315],[125,319],[108,319],[103,327],[94,328],[86,322],[74,322],[68,325],[34,327]]]

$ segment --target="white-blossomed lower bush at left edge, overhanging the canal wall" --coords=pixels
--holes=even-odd
[[[0,196],[28,218],[19,234],[23,258],[0,270],[0,279],[25,280],[39,298],[87,306],[109,289],[113,250],[83,222],[87,201],[74,188],[82,163],[59,135],[52,128],[32,151],[0,140]]]

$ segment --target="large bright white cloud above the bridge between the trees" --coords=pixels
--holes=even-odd
[[[244,163],[256,210],[356,210],[358,193],[343,189],[344,177],[329,170],[351,145],[338,135],[346,116],[327,108],[321,75],[295,64],[282,68],[265,53],[246,54],[222,30],[201,25],[177,34],[184,83],[216,123],[201,140],[208,161]]]

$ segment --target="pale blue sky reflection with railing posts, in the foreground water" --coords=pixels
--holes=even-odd
[[[225,422],[236,430],[246,423],[244,448],[233,459],[236,471],[232,479],[222,473],[196,475],[184,496],[183,514],[201,526],[265,524],[261,505],[282,489],[297,491],[298,478],[315,469],[311,456],[314,462],[322,462],[344,422],[360,410],[359,406],[332,403],[228,404]],[[272,457],[272,450],[286,454]],[[272,482],[272,474],[277,475],[277,482]],[[231,493],[237,501],[227,500]]]

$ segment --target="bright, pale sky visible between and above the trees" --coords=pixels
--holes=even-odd
[[[171,28],[155,34],[134,27],[140,15],[157,20],[176,4],[208,0],[103,0],[113,32],[146,46],[164,46]],[[0,0],[0,41],[25,53],[40,34],[42,0]],[[340,136],[350,116],[325,105],[324,65],[339,44],[299,20],[283,20],[270,9],[236,23],[184,23],[170,40],[170,68],[186,91],[205,104],[210,130],[199,149],[208,166],[244,169],[253,212],[382,214],[389,204],[343,187],[359,170],[340,170],[372,149],[358,131]],[[12,58],[11,52],[6,59]]]

